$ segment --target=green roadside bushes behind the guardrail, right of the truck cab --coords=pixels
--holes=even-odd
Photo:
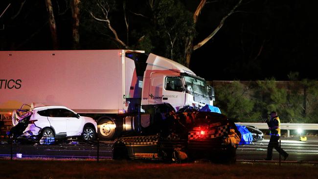
[[[216,105],[240,122],[265,121],[269,112],[276,111],[284,123],[318,123],[318,83],[314,80],[234,81],[215,86],[215,91]]]

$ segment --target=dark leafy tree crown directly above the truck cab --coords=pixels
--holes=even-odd
[[[184,64],[186,38],[195,32],[192,13],[187,11],[179,0],[157,0],[154,6],[154,22],[157,33],[153,34],[153,44],[156,49],[161,48],[163,56]]]

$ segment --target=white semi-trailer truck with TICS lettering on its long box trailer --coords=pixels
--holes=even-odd
[[[141,105],[201,108],[214,92],[172,60],[134,50],[0,51],[0,112],[24,103],[67,106],[93,117],[100,138],[136,130]]]

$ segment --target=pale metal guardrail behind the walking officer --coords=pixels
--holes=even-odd
[[[268,129],[267,123],[258,122],[236,122],[235,124],[242,126],[255,126],[258,129]],[[316,123],[280,123],[281,130],[287,130],[287,136],[290,136],[290,130],[313,130],[318,131],[318,124]]]

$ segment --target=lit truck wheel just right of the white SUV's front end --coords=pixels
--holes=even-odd
[[[101,139],[113,139],[115,134],[115,124],[110,119],[101,119],[97,124],[98,136]]]

